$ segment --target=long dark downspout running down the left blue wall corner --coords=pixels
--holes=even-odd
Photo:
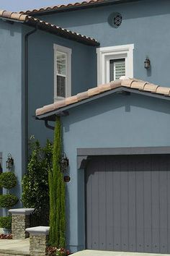
[[[24,133],[25,133],[25,166],[28,159],[28,38],[37,31],[37,25],[34,30],[31,30],[24,35]]]

